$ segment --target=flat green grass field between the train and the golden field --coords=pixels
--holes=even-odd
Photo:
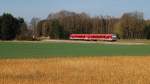
[[[0,58],[149,55],[150,45],[0,42]]]

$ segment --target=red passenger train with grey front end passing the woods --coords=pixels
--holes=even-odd
[[[115,34],[70,34],[70,39],[116,41],[117,36]]]

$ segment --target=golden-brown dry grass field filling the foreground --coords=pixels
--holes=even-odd
[[[150,84],[150,57],[0,60],[0,84]]]

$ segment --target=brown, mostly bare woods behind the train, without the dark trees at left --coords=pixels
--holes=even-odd
[[[120,39],[149,39],[150,20],[141,12],[124,13],[120,18],[60,11],[39,21],[36,36],[68,39],[69,34],[116,34]]]

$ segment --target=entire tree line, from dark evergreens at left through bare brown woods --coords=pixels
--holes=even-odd
[[[0,16],[1,40],[34,40],[40,37],[69,39],[72,33],[116,34],[120,39],[150,39],[150,20],[145,20],[144,14],[137,11],[116,18],[63,10],[50,13],[43,20],[34,17],[30,24],[8,13]]]

